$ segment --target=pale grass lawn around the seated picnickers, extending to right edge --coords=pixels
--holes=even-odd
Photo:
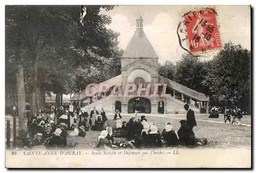
[[[250,116],[249,116],[250,117]],[[108,117],[112,118],[112,117]],[[129,116],[123,116],[123,120],[129,121]],[[197,119],[210,119],[223,121],[221,118],[208,118],[197,116]],[[247,117],[246,117],[247,118]],[[165,123],[170,122],[176,131],[180,128],[179,119],[163,118],[163,117],[146,117],[147,122],[155,122],[159,131],[162,132]],[[182,116],[181,119],[184,119]],[[245,119],[245,118],[243,118]],[[248,119],[247,119],[248,120]],[[248,120],[249,122],[249,120]],[[245,123],[245,122],[243,122]],[[224,123],[197,121],[197,126],[193,129],[196,137],[205,137],[208,140],[207,145],[199,146],[206,148],[230,148],[230,147],[248,147],[251,145],[251,128],[245,126],[235,126]],[[75,137],[73,142],[77,142],[77,148],[91,149],[96,146],[100,132],[87,132],[86,137]],[[180,146],[184,147],[184,146]]]

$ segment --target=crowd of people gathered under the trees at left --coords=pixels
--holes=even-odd
[[[103,108],[100,114],[95,107],[89,114],[87,110],[73,105],[69,109],[62,106],[59,109],[55,106],[39,109],[38,114],[28,120],[28,129],[22,138],[23,145],[25,149],[36,146],[53,149],[67,147],[68,136],[85,137],[86,131],[101,128],[107,119]],[[71,132],[68,134],[68,131]]]

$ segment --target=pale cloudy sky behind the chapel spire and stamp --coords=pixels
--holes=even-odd
[[[177,37],[178,23],[182,14],[189,10],[207,6],[117,6],[111,11],[101,11],[110,15],[112,23],[109,29],[120,33],[119,47],[125,50],[136,30],[136,17],[143,18],[143,30],[150,40],[159,62],[177,62],[185,51],[180,47]],[[222,43],[231,41],[250,50],[250,6],[215,6]],[[212,51],[201,57],[209,60],[218,51]]]

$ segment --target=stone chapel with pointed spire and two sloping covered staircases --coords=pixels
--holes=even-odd
[[[93,96],[84,91],[75,93],[72,101],[79,107],[93,109],[103,107],[107,113],[119,110],[121,113],[180,114],[185,113],[183,105],[188,103],[196,113],[208,113],[208,98],[203,93],[189,89],[158,74],[158,56],[143,31],[143,19],[136,19],[136,30],[121,58],[121,75],[103,82],[110,86],[109,91],[98,95],[99,85],[89,88]],[[101,83],[102,84],[102,83]],[[136,85],[136,91],[127,95],[111,95],[115,86],[122,90],[129,84]],[[154,84],[158,94],[153,94]],[[150,87],[150,94],[136,95],[139,85]],[[165,86],[165,87],[163,87]],[[97,88],[98,87],[98,88]],[[164,89],[164,91],[163,91]],[[165,93],[163,96],[161,93]],[[100,109],[100,108],[98,108]],[[204,111],[205,110],[205,111]]]

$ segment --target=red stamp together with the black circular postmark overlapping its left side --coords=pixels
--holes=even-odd
[[[193,56],[222,48],[216,8],[207,7],[183,13],[177,27],[179,44]]]

